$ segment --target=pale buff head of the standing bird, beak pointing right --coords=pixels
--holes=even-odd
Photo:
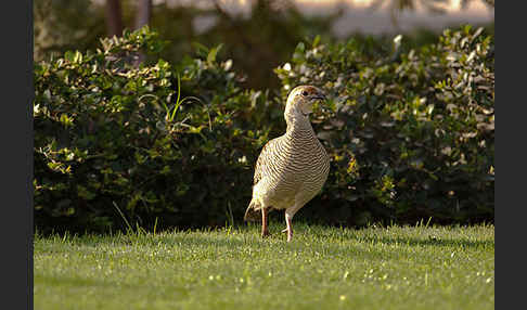
[[[313,112],[313,104],[325,100],[325,94],[314,86],[295,87],[287,96],[285,118],[307,118]]]

